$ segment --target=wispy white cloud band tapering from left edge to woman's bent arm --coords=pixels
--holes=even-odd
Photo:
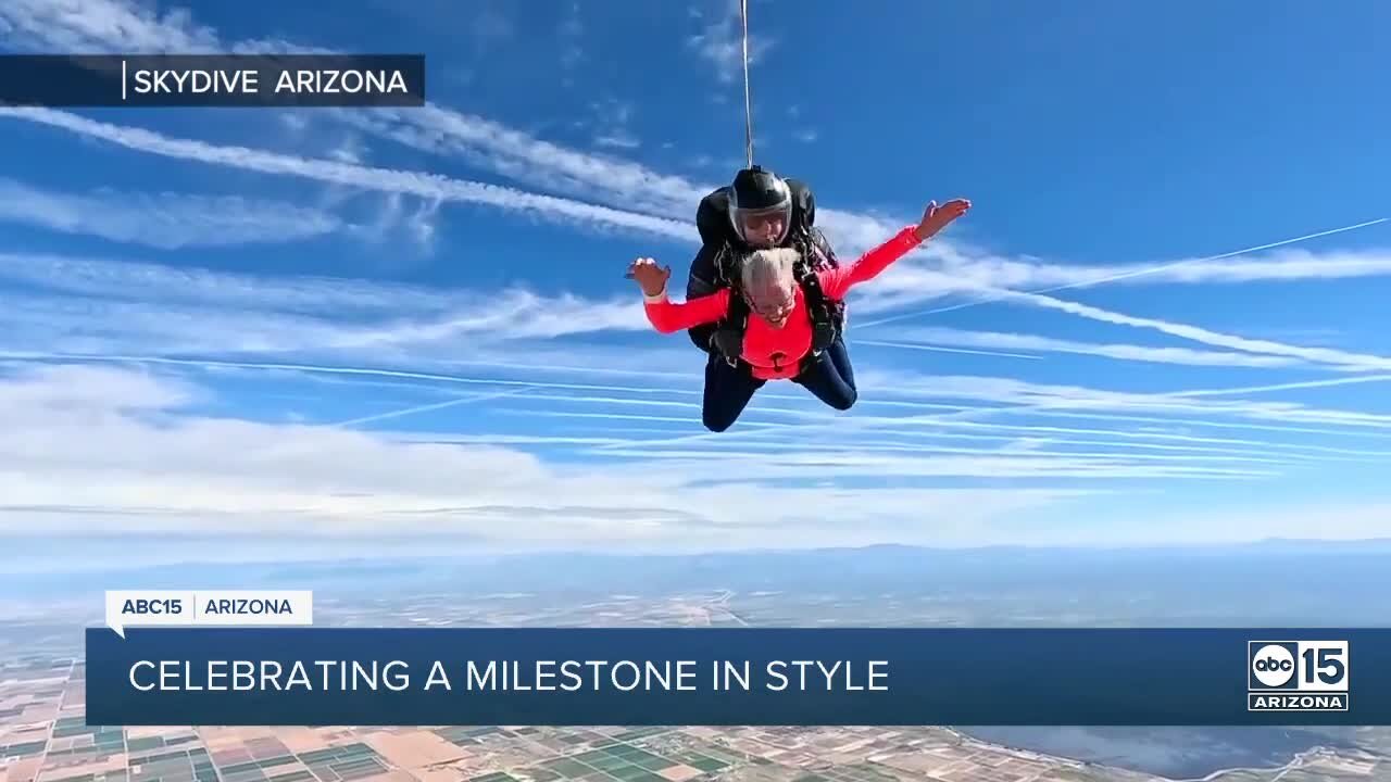
[[[636,296],[448,291],[28,253],[0,253],[0,281],[22,285],[0,288],[0,346],[29,351],[430,363],[477,358],[502,342],[651,333]]]

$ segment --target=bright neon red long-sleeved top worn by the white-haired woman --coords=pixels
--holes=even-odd
[[[890,263],[918,246],[921,242],[915,228],[917,225],[903,228],[892,239],[857,257],[853,263],[818,271],[821,289],[832,299],[844,299],[851,287],[874,280]],[[658,296],[644,299],[643,309],[647,310],[647,320],[658,331],[670,334],[725,317],[729,312],[729,296],[730,289],[721,288],[708,296],[676,303],[666,296],[666,291],[662,291]],[[797,287],[797,303],[782,328],[773,328],[757,314],[748,317],[748,327],[744,330],[743,359],[753,366],[754,377],[764,380],[796,377],[801,359],[808,351],[811,351],[811,316],[807,312],[807,302],[800,285]],[[773,366],[776,353],[782,353],[776,362],[779,369]]]

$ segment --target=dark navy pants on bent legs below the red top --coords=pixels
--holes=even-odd
[[[725,431],[733,426],[764,383],[766,380],[754,377],[747,363],[729,366],[723,356],[712,352],[705,363],[705,404],[701,413],[705,429]],[[860,395],[843,338],[836,338],[793,383],[837,410],[849,410]]]

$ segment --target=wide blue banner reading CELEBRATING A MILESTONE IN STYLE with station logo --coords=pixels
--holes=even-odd
[[[125,635],[92,725],[1391,725],[1391,629]]]

